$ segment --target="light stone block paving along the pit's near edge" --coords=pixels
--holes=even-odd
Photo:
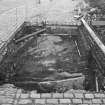
[[[39,94],[15,87],[0,87],[0,105],[105,105],[105,93],[73,90]]]

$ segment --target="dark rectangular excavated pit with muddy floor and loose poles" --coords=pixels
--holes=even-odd
[[[45,27],[25,24],[16,33],[0,63],[1,81],[39,93],[84,90],[88,54],[78,27],[46,27],[27,37]]]

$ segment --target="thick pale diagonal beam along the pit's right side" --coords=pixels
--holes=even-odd
[[[96,42],[98,47],[102,50],[102,52],[105,54],[105,45],[102,43],[102,41],[98,38],[98,36],[95,34],[95,32],[90,28],[90,26],[87,24],[87,22],[84,20],[84,18],[81,19],[83,25],[90,33],[93,40]]]

